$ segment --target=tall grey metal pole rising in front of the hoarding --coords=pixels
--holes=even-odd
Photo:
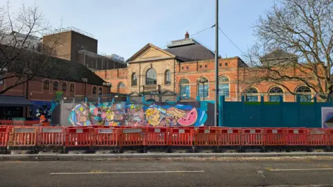
[[[219,126],[219,0],[216,0],[215,17],[215,116],[214,126]]]

